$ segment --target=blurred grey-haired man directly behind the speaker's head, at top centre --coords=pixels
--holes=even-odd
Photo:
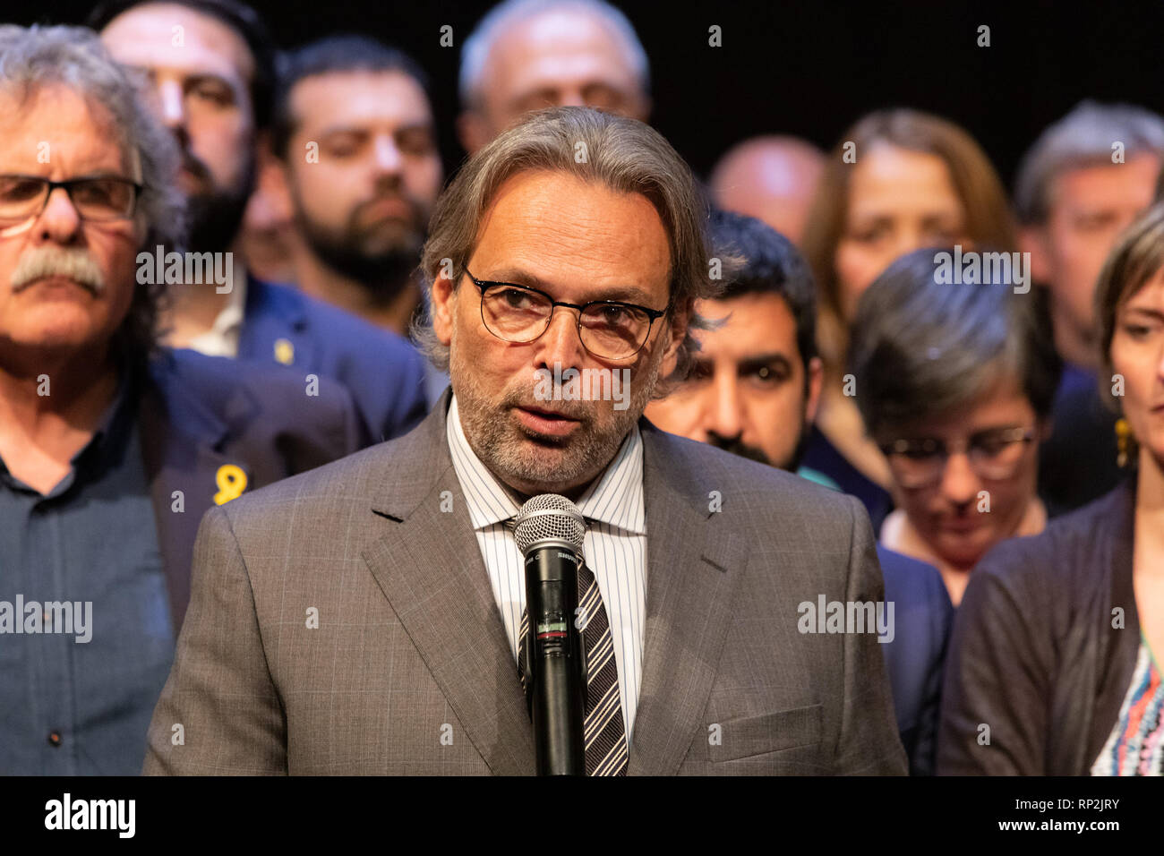
[[[602,0],[506,0],[464,41],[457,136],[470,155],[545,107],[580,106],[647,121],[646,51]]]

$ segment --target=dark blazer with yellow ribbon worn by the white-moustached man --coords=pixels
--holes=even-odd
[[[240,488],[250,493],[350,454],[364,438],[334,381],[320,379],[308,396],[293,373],[185,349],[150,360],[137,417],[175,634],[203,515]]]

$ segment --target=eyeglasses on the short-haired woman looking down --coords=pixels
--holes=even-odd
[[[1034,426],[988,429],[946,443],[936,437],[903,438],[882,444],[889,468],[903,488],[929,487],[942,479],[951,454],[965,452],[980,479],[1001,481],[1015,474],[1023,452],[1035,440]]]

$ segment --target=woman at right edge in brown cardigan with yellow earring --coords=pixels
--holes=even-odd
[[[1164,772],[1164,206],[1121,236],[1095,309],[1101,395],[1122,411],[1133,472],[974,571],[951,641],[939,772]]]

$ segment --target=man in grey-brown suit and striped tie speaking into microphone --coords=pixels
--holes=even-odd
[[[526,616],[513,528],[558,494],[584,522],[587,773],[903,773],[876,628],[802,620],[881,601],[860,504],[641,419],[717,290],[705,220],[632,119],[549,109],[474,155],[421,263],[452,388],[206,515],[146,772],[537,772],[519,653],[558,625]]]

